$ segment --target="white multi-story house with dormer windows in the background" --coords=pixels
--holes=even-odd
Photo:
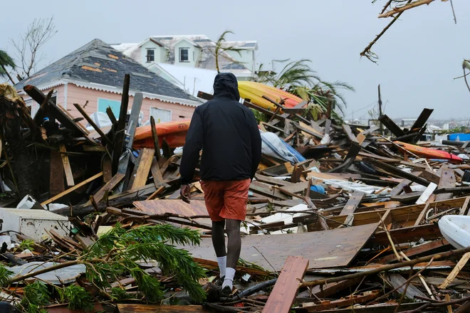
[[[227,41],[225,45],[241,48],[243,51],[221,53],[219,69],[223,72],[234,73],[238,80],[249,80],[253,77],[258,43],[256,41]],[[150,70],[158,68],[158,66],[152,66],[155,63],[216,70],[214,53],[216,43],[205,35],[152,36],[140,43],[120,43],[111,46]]]

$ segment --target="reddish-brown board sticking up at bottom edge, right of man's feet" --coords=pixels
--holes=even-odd
[[[296,299],[301,280],[308,268],[308,259],[289,256],[282,267],[276,285],[263,308],[263,313],[287,313]]]

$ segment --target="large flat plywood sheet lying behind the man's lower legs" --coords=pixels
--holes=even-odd
[[[240,258],[254,262],[266,270],[274,267],[276,271],[282,269],[289,255],[308,259],[308,268],[348,266],[376,228],[377,223],[374,223],[312,233],[249,235],[241,238]],[[198,247],[187,245],[184,249],[195,258],[216,260],[211,238],[203,238]]]

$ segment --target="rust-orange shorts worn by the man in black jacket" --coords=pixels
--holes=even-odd
[[[241,181],[201,181],[211,221],[244,221],[251,179]]]

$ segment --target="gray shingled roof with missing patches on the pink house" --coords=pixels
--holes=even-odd
[[[122,88],[126,73],[130,74],[132,91],[200,102],[100,39],[90,41],[30,78],[21,80],[15,87],[20,90],[25,85],[44,87],[58,80],[71,80]]]

